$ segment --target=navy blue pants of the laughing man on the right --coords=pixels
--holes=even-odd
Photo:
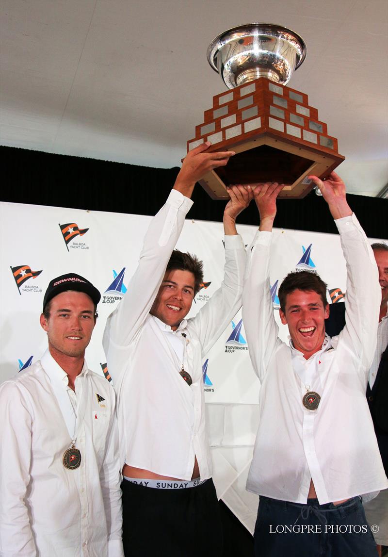
[[[376,557],[360,497],[340,505],[306,505],[260,497],[255,557]]]

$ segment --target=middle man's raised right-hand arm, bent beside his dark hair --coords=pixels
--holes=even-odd
[[[230,201],[224,209],[225,268],[224,280],[217,292],[190,319],[189,327],[195,329],[202,346],[203,355],[229,325],[241,307],[243,275],[245,268],[245,246],[237,233],[235,220],[253,198],[253,190],[242,185],[228,188]]]

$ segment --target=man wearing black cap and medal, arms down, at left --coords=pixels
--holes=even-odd
[[[48,350],[0,387],[2,557],[121,557],[115,395],[87,368],[100,292],[68,273],[46,290]]]

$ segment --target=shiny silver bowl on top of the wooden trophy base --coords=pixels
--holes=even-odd
[[[207,58],[233,89],[259,77],[286,85],[306,58],[297,33],[272,23],[247,23],[224,31],[210,43]]]

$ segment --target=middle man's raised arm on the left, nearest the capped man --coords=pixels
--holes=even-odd
[[[183,228],[186,213],[192,205],[189,197],[195,183],[210,169],[227,164],[229,157],[234,154],[230,151],[208,153],[209,145],[199,145],[186,155],[173,191],[150,223],[139,265],[131,277],[127,292],[107,319],[103,339],[106,353],[112,344],[128,345],[144,323]]]

